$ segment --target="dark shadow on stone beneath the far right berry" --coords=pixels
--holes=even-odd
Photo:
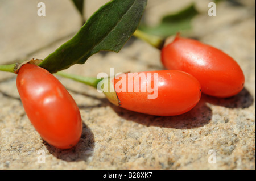
[[[240,93],[230,98],[216,98],[213,96],[205,95],[206,102],[217,105],[223,106],[226,108],[248,108],[250,107],[253,102],[254,98],[250,94],[250,92],[244,88]]]

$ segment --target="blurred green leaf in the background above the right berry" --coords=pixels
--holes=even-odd
[[[192,4],[175,14],[164,16],[160,24],[155,27],[149,27],[144,24],[139,26],[139,30],[165,38],[179,31],[189,30],[191,28],[191,19],[197,14],[195,5]]]

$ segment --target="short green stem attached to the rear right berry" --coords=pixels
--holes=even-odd
[[[163,48],[164,39],[162,37],[150,35],[138,29],[134,32],[133,35],[135,37],[138,37],[139,39],[146,41],[147,43],[151,44],[155,48],[158,48],[160,50]]]

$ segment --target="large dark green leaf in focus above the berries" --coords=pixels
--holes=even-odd
[[[96,11],[80,31],[40,64],[51,73],[84,64],[101,50],[119,52],[133,35],[147,0],[112,0]]]

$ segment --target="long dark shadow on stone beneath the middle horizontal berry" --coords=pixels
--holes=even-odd
[[[192,129],[203,127],[212,120],[212,110],[207,106],[204,97],[191,111],[178,116],[151,116],[125,110],[121,107],[112,106],[112,108],[123,119],[134,121],[147,127]]]

